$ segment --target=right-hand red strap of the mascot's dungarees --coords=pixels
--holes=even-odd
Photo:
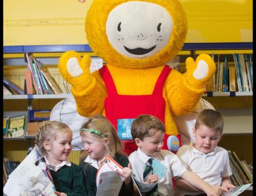
[[[155,84],[155,88],[152,94],[163,94],[164,83],[166,83],[166,78],[168,77],[170,72],[171,68],[168,65],[164,66],[163,71],[161,72],[160,76],[157,79],[157,83]]]

